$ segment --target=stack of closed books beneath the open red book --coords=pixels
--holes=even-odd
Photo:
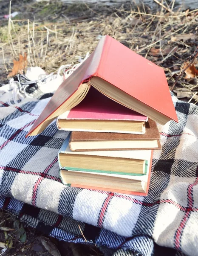
[[[161,148],[156,122],[91,88],[82,102],[58,117],[57,126],[72,131],[59,151],[63,183],[147,193],[152,150]]]

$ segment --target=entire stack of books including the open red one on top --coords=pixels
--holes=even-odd
[[[64,184],[147,195],[156,122],[178,122],[164,71],[110,36],[58,88],[29,131],[56,117],[70,131],[59,155]]]

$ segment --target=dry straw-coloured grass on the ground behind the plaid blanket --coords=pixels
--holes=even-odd
[[[108,34],[163,67],[170,87],[174,85],[175,92],[191,98],[197,91],[197,79],[187,81],[181,76],[174,83],[184,62],[191,61],[198,48],[198,10],[173,7],[158,5],[151,10],[144,4],[67,6],[30,1],[23,14],[0,29],[3,72],[7,74],[12,59],[24,52],[28,53],[28,65],[56,72],[62,64],[77,63],[79,56],[92,52],[99,38]]]

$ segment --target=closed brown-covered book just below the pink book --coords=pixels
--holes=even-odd
[[[157,125],[151,119],[146,122],[144,134],[73,131],[69,146],[71,151],[161,149]]]

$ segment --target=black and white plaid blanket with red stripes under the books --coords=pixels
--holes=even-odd
[[[49,94],[17,105],[8,104],[9,91],[1,95],[0,208],[105,255],[198,255],[198,107],[173,96],[179,122],[158,127],[162,150],[154,151],[149,195],[141,197],[63,185],[57,153],[66,132],[53,122],[25,138]]]

